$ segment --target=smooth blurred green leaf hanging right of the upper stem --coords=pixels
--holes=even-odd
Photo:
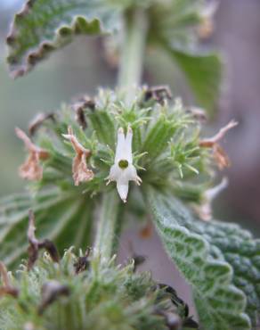
[[[191,87],[199,105],[212,111],[221,83],[221,59],[217,54],[191,54],[175,48],[168,48]]]

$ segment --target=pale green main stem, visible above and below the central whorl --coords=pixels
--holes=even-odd
[[[141,9],[126,12],[118,74],[118,87],[126,90],[126,102],[134,98],[134,87],[141,83],[146,32],[147,20],[145,12]],[[116,190],[103,194],[102,209],[94,242],[94,252],[101,255],[102,259],[110,259],[115,247],[118,203]]]

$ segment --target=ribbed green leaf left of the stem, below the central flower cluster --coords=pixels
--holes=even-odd
[[[49,189],[31,197],[17,194],[0,201],[0,260],[18,264],[28,248],[28,210],[34,211],[38,238],[48,238],[60,252],[69,245],[89,245],[92,201],[89,196]]]

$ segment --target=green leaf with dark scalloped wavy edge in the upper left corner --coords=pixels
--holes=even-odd
[[[77,35],[110,33],[117,27],[117,8],[103,0],[28,0],[6,39],[12,75],[24,75]]]

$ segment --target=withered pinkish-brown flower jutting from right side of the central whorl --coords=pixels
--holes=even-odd
[[[231,161],[227,155],[227,153],[224,152],[223,148],[218,144],[218,142],[225,136],[227,131],[229,131],[231,128],[234,128],[238,125],[238,122],[235,120],[231,120],[226,126],[221,128],[218,133],[216,133],[215,136],[210,138],[202,139],[199,142],[199,146],[203,148],[211,148],[213,151],[213,156],[215,158],[216,164],[218,165],[219,169],[227,168],[231,165]]]

